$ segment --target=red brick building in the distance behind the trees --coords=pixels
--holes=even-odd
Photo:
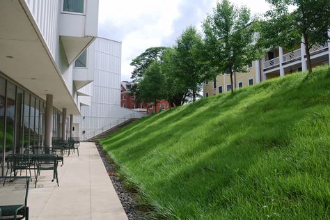
[[[133,82],[123,81],[121,83],[121,93],[120,93],[120,106],[127,109],[134,109],[135,111],[143,111],[150,114],[152,111],[155,111],[154,103],[150,102],[148,104],[139,103],[137,101],[136,95],[131,95],[130,90],[134,85]],[[160,109],[166,110],[169,109],[170,104],[161,100],[157,103],[157,113]]]

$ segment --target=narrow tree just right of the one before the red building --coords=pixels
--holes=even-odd
[[[178,75],[177,63],[175,62],[177,56],[176,50],[173,48],[166,50],[162,56],[161,67],[165,77],[165,96],[171,107],[184,104],[185,98],[189,93],[189,88]]]

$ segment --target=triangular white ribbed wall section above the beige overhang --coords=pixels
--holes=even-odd
[[[58,44],[58,0],[25,0],[38,24],[47,46],[56,58],[56,47]]]

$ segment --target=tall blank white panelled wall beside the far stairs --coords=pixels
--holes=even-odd
[[[95,44],[95,76],[88,84],[88,91],[92,88],[91,107],[81,107],[81,117],[74,117],[79,123],[79,135],[91,132],[100,133],[102,127],[117,123],[118,119],[135,113],[141,118],[143,113],[120,107],[120,66],[121,43],[104,38],[97,38]],[[84,119],[83,119],[84,118]]]

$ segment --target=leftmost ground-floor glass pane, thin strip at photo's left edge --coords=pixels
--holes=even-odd
[[[6,98],[6,80],[0,77],[0,174],[3,175],[3,164],[5,164],[3,141],[5,125],[5,98]]]

